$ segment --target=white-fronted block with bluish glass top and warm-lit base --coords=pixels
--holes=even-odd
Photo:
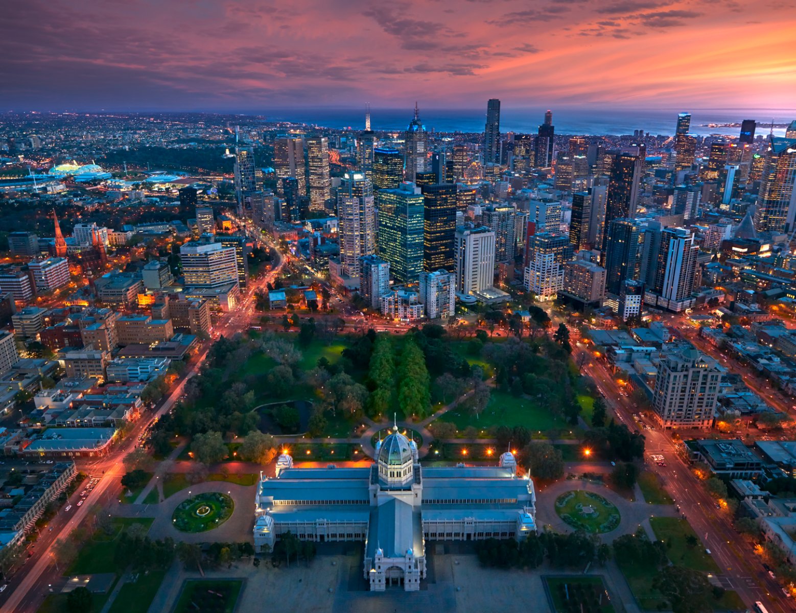
[[[564,262],[572,260],[574,250],[567,236],[541,232],[529,236],[525,289],[539,300],[552,300],[564,288]]]

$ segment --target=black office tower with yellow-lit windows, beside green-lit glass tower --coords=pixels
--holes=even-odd
[[[453,272],[456,232],[456,185],[423,186],[423,270]]]

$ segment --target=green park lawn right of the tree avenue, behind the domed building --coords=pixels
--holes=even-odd
[[[571,427],[560,417],[554,416],[546,408],[540,407],[533,400],[517,398],[509,393],[494,390],[490,404],[476,418],[466,408],[455,408],[440,417],[440,420],[456,424],[458,430],[468,426],[486,429],[493,426],[525,426],[538,432],[552,429],[569,430]]]

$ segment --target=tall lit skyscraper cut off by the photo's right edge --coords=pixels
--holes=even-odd
[[[756,225],[762,232],[791,232],[796,217],[796,138],[769,137]]]

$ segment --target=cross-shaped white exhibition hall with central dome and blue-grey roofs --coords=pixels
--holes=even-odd
[[[426,541],[521,540],[535,532],[533,481],[506,451],[497,467],[420,467],[414,441],[393,428],[371,467],[298,468],[279,457],[256,499],[257,551],[291,533],[316,542],[365,541],[370,589],[420,589]]]

